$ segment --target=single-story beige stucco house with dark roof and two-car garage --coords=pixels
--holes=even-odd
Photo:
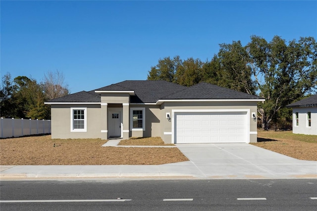
[[[52,138],[161,137],[165,143],[257,142],[258,96],[208,83],[123,81],[53,99]]]

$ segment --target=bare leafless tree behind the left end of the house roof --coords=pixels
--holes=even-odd
[[[64,83],[64,75],[56,70],[48,71],[43,82],[46,100],[60,98],[69,94],[68,85]]]

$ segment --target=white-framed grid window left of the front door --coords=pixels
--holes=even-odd
[[[71,132],[87,132],[87,108],[74,107],[70,109]]]

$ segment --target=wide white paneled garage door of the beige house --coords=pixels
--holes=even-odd
[[[247,112],[175,112],[175,143],[246,143]]]

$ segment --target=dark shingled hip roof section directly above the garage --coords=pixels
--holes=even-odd
[[[249,95],[209,83],[199,83],[175,94],[169,95],[162,100],[180,99],[262,99],[255,95]]]

